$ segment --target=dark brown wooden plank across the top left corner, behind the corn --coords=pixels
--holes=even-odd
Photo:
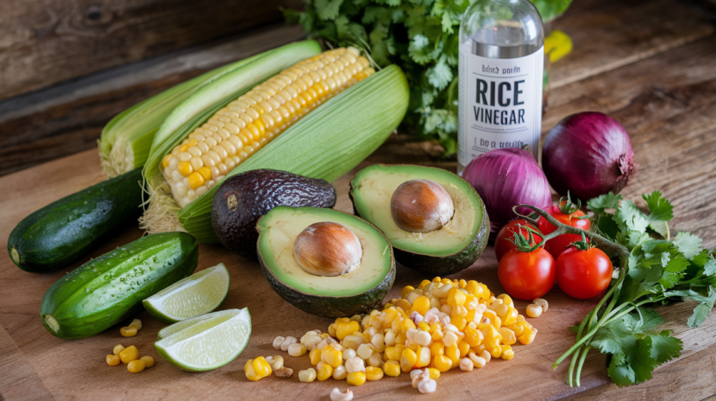
[[[0,1],[0,99],[281,21],[297,0]]]

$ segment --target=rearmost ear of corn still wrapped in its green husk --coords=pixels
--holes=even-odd
[[[116,177],[144,166],[155,134],[178,104],[219,76],[262,55],[257,54],[205,72],[117,114],[102,129],[100,140],[97,141],[102,169],[107,176]]]

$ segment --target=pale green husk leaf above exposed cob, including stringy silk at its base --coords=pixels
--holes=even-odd
[[[147,232],[183,231],[177,212],[180,210],[161,172],[162,159],[180,144],[196,127],[206,122],[226,104],[299,61],[321,53],[316,41],[299,41],[266,51],[228,74],[218,77],[195,91],[164,120],[155,134],[144,177],[150,200],[140,227]]]

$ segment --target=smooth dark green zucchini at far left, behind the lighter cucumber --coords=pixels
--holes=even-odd
[[[142,214],[142,169],[134,169],[48,204],[10,233],[7,250],[26,272],[69,266],[89,249],[137,222]]]

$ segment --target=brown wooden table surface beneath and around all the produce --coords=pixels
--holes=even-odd
[[[549,106],[544,118],[546,132],[559,119],[586,110],[609,113],[624,124],[641,169],[625,197],[644,206],[642,192],[659,189],[674,205],[672,231],[693,232],[704,239],[705,247],[716,247],[716,37],[713,26],[696,11],[672,1],[577,0],[556,29],[568,32],[575,50],[553,66]],[[292,28],[263,31],[256,36],[236,39],[214,47],[198,49],[202,60],[226,61],[231,51],[258,51],[296,37]],[[260,40],[256,40],[260,39]],[[247,43],[255,44],[246,50]],[[244,44],[240,46],[238,44]],[[192,60],[192,55],[185,57]],[[196,59],[193,59],[196,60]],[[24,103],[0,104],[0,138],[4,130],[23,127],[40,132],[39,147],[63,143],[68,139],[89,142],[97,128],[117,109],[125,107],[130,93],[145,96],[198,74],[211,65],[195,62],[187,71],[166,72],[161,61],[127,69],[110,81],[82,86],[84,94],[64,92],[42,99],[42,107]],[[167,65],[164,65],[167,67]],[[146,80],[147,71],[155,75]],[[179,78],[180,77],[180,78]],[[82,84],[80,82],[79,84]],[[124,84],[124,85],[122,85]],[[75,84],[72,84],[75,85]],[[70,86],[71,88],[72,86]],[[32,97],[28,99],[33,99]],[[19,99],[23,100],[23,99]],[[104,100],[105,102],[102,102]],[[4,107],[4,109],[3,109]],[[34,107],[34,109],[32,109]],[[92,112],[97,112],[90,116]],[[64,114],[63,114],[64,113]],[[61,117],[74,117],[62,119]],[[89,128],[81,116],[87,117]],[[32,119],[34,117],[35,119]],[[34,123],[30,124],[29,122]],[[49,122],[57,134],[37,131],[40,122]],[[35,125],[33,125],[35,124]],[[93,131],[94,130],[94,131]],[[42,136],[44,135],[44,137]],[[43,142],[44,141],[44,142]],[[49,142],[48,142],[49,141]],[[21,160],[33,155],[30,163],[47,158],[39,147],[21,144],[0,150],[0,167],[9,167],[6,158]],[[69,149],[62,149],[69,152]],[[50,152],[57,155],[62,152]],[[440,148],[430,142],[413,142],[405,136],[392,137],[359,167],[376,162],[412,162],[454,169],[451,162],[435,162]],[[354,173],[335,182],[339,193],[337,209],[351,209],[347,187]],[[76,192],[105,177],[100,172],[96,149],[24,169],[0,177],[0,242],[6,242],[12,227],[35,209]],[[39,302],[44,291],[65,272],[110,249],[140,237],[138,229],[117,233],[111,242],[95,249],[72,267],[54,274],[30,274],[17,269],[9,257],[0,257],[0,400],[132,399],[183,400],[226,398],[256,400],[259,397],[296,400],[321,398],[344,382],[300,383],[276,377],[251,383],[243,376],[243,363],[259,355],[279,354],[271,347],[278,335],[299,337],[306,330],[321,330],[331,320],[306,315],[271,291],[256,262],[242,259],[218,245],[200,247],[199,269],[224,262],[232,277],[231,290],[222,309],[248,307],[253,317],[253,333],[248,347],[229,365],[212,372],[189,373],[177,370],[153,350],[156,332],[163,327],[146,312],[139,317],[145,327],[137,337],[127,340],[119,326],[84,340],[60,340],[44,330],[39,319]],[[475,266],[454,277],[478,279],[494,292],[502,288],[495,277],[497,263],[488,247]],[[420,282],[422,275],[399,267],[395,287],[389,297],[399,294],[407,284]],[[675,399],[703,400],[716,393],[716,317],[697,329],[688,329],[685,320],[692,305],[661,308],[667,320],[664,327],[674,330],[684,342],[682,357],[660,367],[654,378],[642,385],[617,389],[606,377],[605,358],[591,354],[584,367],[582,387],[565,384],[566,365],[551,370],[551,363],[574,342],[567,327],[581,320],[594,307],[593,301],[569,299],[558,289],[548,294],[550,310],[533,320],[537,339],[516,347],[514,360],[490,362],[476,372],[451,371],[438,380],[438,392],[420,400],[554,400],[571,398],[616,400]],[[526,303],[518,303],[524,310]],[[114,345],[136,345],[142,355],[152,355],[157,365],[132,375],[122,367],[109,367],[104,357]],[[309,366],[306,357],[286,357],[294,370]],[[407,375],[385,378],[354,388],[356,396],[372,400],[414,397]]]

